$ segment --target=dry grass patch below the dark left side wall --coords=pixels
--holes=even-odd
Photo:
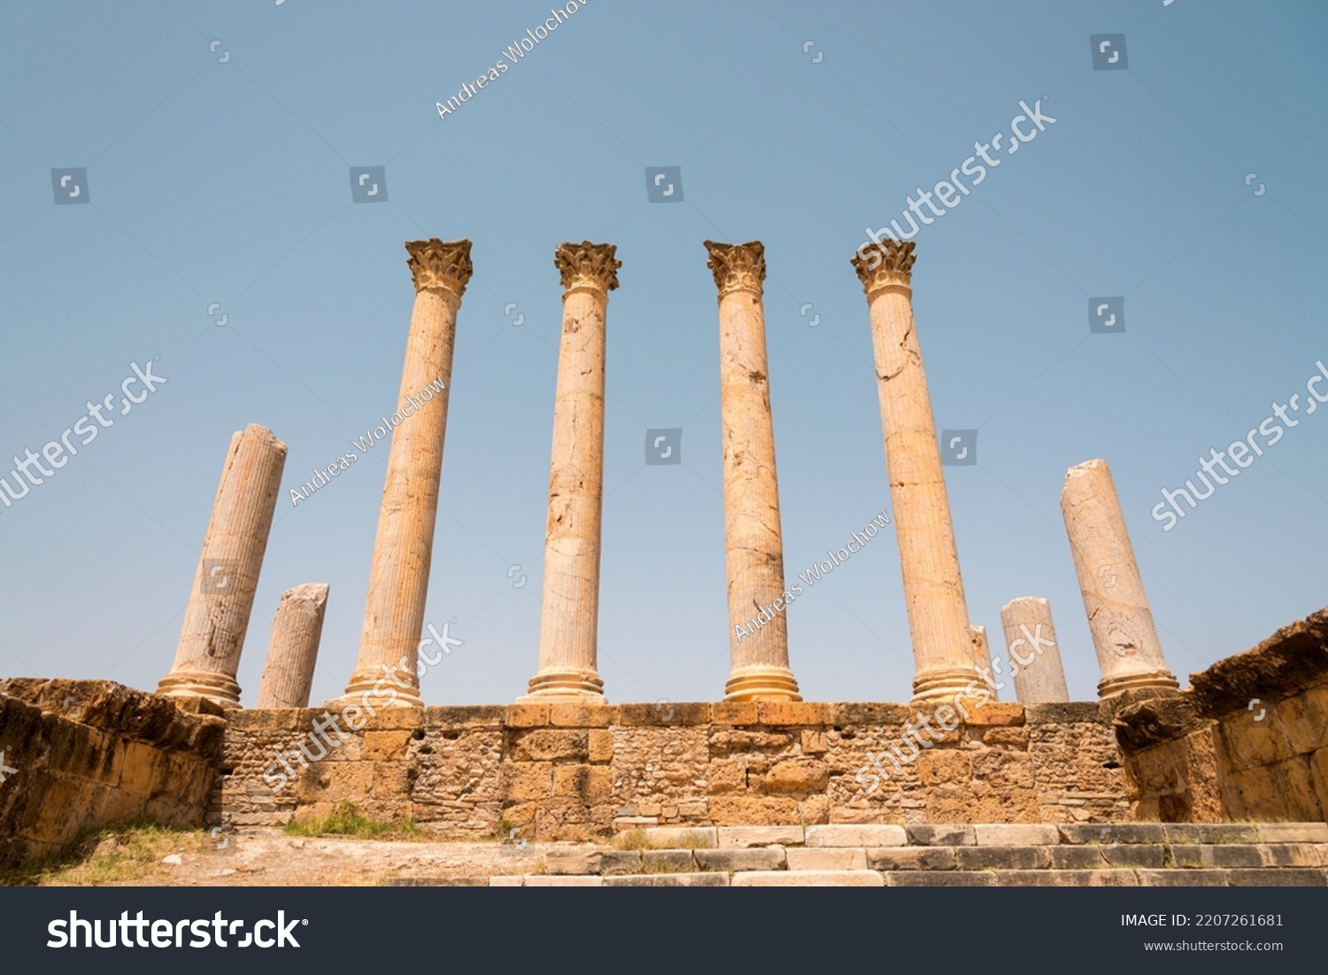
[[[198,849],[202,830],[126,822],[80,833],[58,851],[25,866],[0,870],[0,886],[100,887],[147,877],[169,853]]]

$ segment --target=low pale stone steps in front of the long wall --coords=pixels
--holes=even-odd
[[[385,883],[491,887],[1328,886],[1328,824],[1323,822],[656,826],[640,830],[633,840],[633,845],[648,849],[533,843],[511,847],[510,874],[392,878]]]

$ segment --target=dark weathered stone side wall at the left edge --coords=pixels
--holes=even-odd
[[[108,822],[202,826],[223,729],[105,680],[0,680],[0,866]]]

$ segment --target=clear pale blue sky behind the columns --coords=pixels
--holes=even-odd
[[[118,404],[130,363],[161,356],[166,377],[0,507],[0,675],[155,688],[231,433],[259,422],[290,456],[243,700],[280,592],[305,582],[331,584],[313,700],[339,693],[386,448],[297,506],[287,490],[393,409],[414,298],[402,243],[440,236],[474,242],[474,278],[426,619],[456,618],[465,643],[422,695],[523,693],[560,328],[552,254],[588,238],[623,262],[608,308],[606,693],[721,697],[718,328],[701,242],[765,243],[791,582],[891,510],[849,259],[975,142],[1008,141],[1021,100],[1056,121],[1015,154],[992,150],[1001,165],[914,238],[936,426],[977,430],[977,464],[946,468],[973,623],[1004,655],[1000,607],[1048,598],[1072,696],[1096,697],[1058,503],[1066,468],[1094,457],[1112,465],[1182,684],[1328,603],[1328,409],[1301,402],[1295,428],[1171,530],[1150,514],[1210,448],[1303,401],[1328,363],[1328,7],[590,0],[440,118],[436,102],[511,62],[505,49],[550,9],[0,8],[0,474],[86,401],[116,391]],[[1094,70],[1093,35],[1125,35],[1127,66]],[[386,201],[352,202],[353,166],[385,167]],[[649,166],[681,167],[681,202],[648,202]],[[88,202],[56,205],[52,170],[76,167]],[[1097,298],[1123,299],[1123,333],[1090,332]],[[683,464],[647,466],[645,430],[675,426]],[[892,529],[790,607],[789,650],[809,700],[908,699]]]

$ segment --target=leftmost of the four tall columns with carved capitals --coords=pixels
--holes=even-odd
[[[421,707],[416,665],[438,514],[452,349],[457,310],[471,272],[469,240],[412,240],[406,251],[416,300],[401,369],[402,418],[392,433],[388,454],[360,659],[345,687],[345,699],[361,699],[371,692],[369,703],[374,707]],[[432,384],[440,379],[442,385],[436,392]],[[424,395],[426,387],[432,396]],[[381,689],[373,692],[374,684],[384,679],[388,688],[393,688],[393,680],[401,685],[390,701],[382,700]]]

